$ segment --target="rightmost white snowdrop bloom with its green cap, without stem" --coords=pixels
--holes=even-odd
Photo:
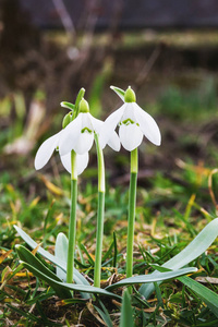
[[[120,142],[129,152],[141,145],[143,136],[155,145],[160,145],[161,135],[157,123],[135,102],[135,93],[131,87],[125,90],[124,105],[111,113],[101,128],[99,135],[101,147],[105,147],[117,125],[120,126]]]

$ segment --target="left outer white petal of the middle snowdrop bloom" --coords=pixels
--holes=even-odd
[[[66,155],[74,148],[74,145],[77,143],[77,138],[81,134],[81,126],[82,116],[78,113],[78,116],[62,131],[59,142],[61,156]]]

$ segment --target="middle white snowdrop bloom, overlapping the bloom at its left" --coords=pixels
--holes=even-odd
[[[98,134],[102,124],[102,121],[89,113],[88,102],[82,99],[78,116],[63,130],[60,136],[60,155],[65,156],[72,149],[77,155],[88,153],[93,146],[94,133]],[[111,132],[106,144],[117,152],[120,150],[120,140],[114,131]]]

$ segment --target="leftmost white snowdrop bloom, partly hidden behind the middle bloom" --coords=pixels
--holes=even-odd
[[[70,117],[70,114],[66,114],[65,118]],[[64,119],[65,119],[64,118]],[[63,120],[64,123],[64,120]],[[60,137],[63,133],[64,129],[61,130],[59,133],[55,134],[53,136],[47,138],[37,150],[36,157],[35,157],[35,169],[39,170],[41,169],[50,159],[52,156],[52,153],[55,149],[59,147]],[[66,154],[65,156],[60,156],[61,162],[65,170],[68,170],[71,173],[71,153]],[[76,168],[77,168],[77,174],[81,174],[84,169],[88,165],[88,153],[84,153],[82,156],[76,156]]]

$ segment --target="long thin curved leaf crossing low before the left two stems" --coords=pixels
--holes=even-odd
[[[121,296],[113,294],[111,292],[108,292],[105,289],[100,289],[100,288],[96,288],[96,287],[92,287],[92,286],[86,286],[86,284],[76,284],[76,283],[66,283],[66,282],[61,282],[61,281],[57,281],[50,277],[48,277],[47,275],[45,275],[44,272],[39,271],[38,269],[36,269],[34,266],[31,266],[29,264],[25,263],[25,262],[21,262],[21,264],[28,269],[31,272],[34,274],[34,276],[45,280],[48,284],[51,286],[52,289],[64,289],[64,290],[71,290],[71,291],[78,291],[78,292],[87,292],[87,293],[95,293],[95,294],[100,294],[104,296],[110,296],[117,300],[121,300]]]

